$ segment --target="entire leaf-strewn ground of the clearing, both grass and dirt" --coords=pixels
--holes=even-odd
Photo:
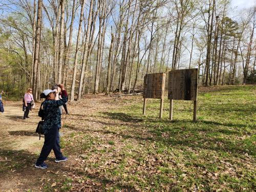
[[[165,94],[167,97],[167,94]],[[33,167],[44,138],[34,133],[37,109],[22,120],[20,102],[0,114],[1,191],[255,190],[255,86],[200,88],[198,121],[192,101],[174,101],[174,121],[159,100],[141,95],[89,95],[63,115],[62,152],[69,161]]]

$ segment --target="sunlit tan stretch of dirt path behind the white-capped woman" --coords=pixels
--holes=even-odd
[[[37,110],[30,112],[30,118],[23,120],[22,108],[17,102],[6,102],[5,113],[0,114],[0,148],[3,150],[35,150],[31,146],[41,146],[44,140],[39,140],[35,127],[40,120]]]

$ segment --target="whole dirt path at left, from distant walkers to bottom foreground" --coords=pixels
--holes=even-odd
[[[5,102],[5,112],[0,114],[0,191],[46,190],[45,183],[56,183],[72,165],[72,160],[54,163],[51,152],[47,170],[34,167],[44,143],[44,136],[39,140],[35,133],[40,121],[37,112],[38,107],[23,120],[20,102]]]

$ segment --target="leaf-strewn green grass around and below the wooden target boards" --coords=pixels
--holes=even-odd
[[[125,106],[100,112],[105,123],[89,133],[72,134],[70,154],[91,154],[87,166],[95,188],[144,191],[252,191],[255,189],[255,86],[225,86],[199,92],[198,121],[193,101],[124,99]],[[109,146],[111,145],[111,146]],[[103,182],[104,181],[104,182]]]

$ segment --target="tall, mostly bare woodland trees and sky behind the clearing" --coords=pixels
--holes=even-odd
[[[52,77],[73,101],[185,68],[202,86],[255,83],[255,12],[229,0],[3,0],[0,90],[38,99]]]

